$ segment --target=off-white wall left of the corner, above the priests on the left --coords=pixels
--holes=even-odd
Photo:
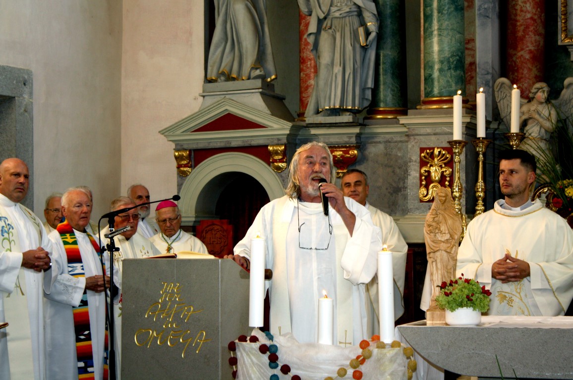
[[[120,188],[121,1],[0,0],[0,65],[34,82],[34,211],[88,185],[92,219]]]

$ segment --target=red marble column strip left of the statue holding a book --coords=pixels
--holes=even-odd
[[[297,120],[304,120],[308,100],[311,98],[312,88],[315,85],[316,61],[311,53],[311,43],[307,39],[308,24],[311,17],[303,14],[299,9],[299,52],[300,52],[300,102]]]

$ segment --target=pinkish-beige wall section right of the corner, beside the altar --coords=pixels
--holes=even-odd
[[[201,105],[203,28],[203,0],[123,0],[123,193],[132,183],[152,200],[177,193],[174,144],[158,131]]]

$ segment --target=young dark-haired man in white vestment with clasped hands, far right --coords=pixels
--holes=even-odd
[[[573,297],[573,231],[539,199],[529,200],[535,171],[528,152],[501,152],[505,199],[468,224],[458,251],[456,275],[490,288],[490,315],[563,315]]]

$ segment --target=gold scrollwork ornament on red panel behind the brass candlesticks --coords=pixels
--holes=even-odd
[[[422,152],[420,158],[428,164],[420,169],[422,185],[418,191],[418,196],[422,201],[429,201],[434,198],[436,191],[440,187],[439,183],[442,180],[442,173],[446,176],[445,187],[449,187],[452,169],[447,167],[446,164],[452,159],[452,155],[442,148],[434,147],[433,150],[426,149],[426,151]],[[426,189],[428,172],[432,183]]]

